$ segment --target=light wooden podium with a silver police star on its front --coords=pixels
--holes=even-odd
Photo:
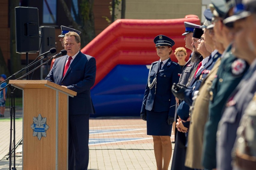
[[[23,90],[23,169],[68,169],[69,96],[47,80],[10,80]]]

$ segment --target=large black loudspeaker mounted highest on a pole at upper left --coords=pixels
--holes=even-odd
[[[38,8],[15,7],[16,52],[39,51]]]

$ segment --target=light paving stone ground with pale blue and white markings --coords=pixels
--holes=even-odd
[[[9,169],[9,160],[6,160],[10,143],[10,115],[8,114],[8,109],[6,109],[5,119],[0,119],[0,170]],[[21,108],[17,108],[16,118],[18,118],[15,121],[17,143],[22,138]],[[89,123],[88,170],[157,169],[153,139],[152,136],[147,135],[146,122],[140,117],[91,118]],[[171,138],[174,138],[173,135]],[[13,161],[11,167],[14,167]],[[22,145],[16,149],[15,167],[17,170],[22,169]]]

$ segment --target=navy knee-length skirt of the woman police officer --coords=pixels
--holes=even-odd
[[[147,135],[171,136],[172,125],[168,125],[166,122],[168,113],[147,110]]]

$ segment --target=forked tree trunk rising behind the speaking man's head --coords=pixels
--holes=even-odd
[[[72,17],[69,7],[64,0],[59,0],[64,8],[64,13],[67,19],[72,23],[76,30],[81,31],[81,46],[87,45],[95,38],[94,15],[93,15],[93,0],[78,1],[78,19],[81,22],[78,24]]]

